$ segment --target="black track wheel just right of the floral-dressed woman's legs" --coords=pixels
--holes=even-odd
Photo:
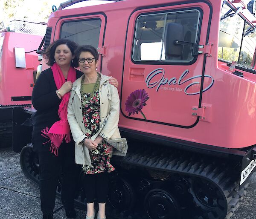
[[[112,179],[108,189],[108,201],[115,209],[131,210],[135,203],[134,189],[125,179]]]

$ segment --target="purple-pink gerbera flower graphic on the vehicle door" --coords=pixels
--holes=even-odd
[[[141,109],[147,105],[146,101],[148,99],[149,96],[145,89],[135,90],[128,96],[127,101],[125,102],[125,110],[129,115],[135,114],[135,112],[138,114],[138,112],[140,112],[144,119],[146,119]]]

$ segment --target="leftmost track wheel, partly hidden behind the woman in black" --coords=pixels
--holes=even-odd
[[[36,184],[39,183],[38,154],[33,151],[32,144],[28,144],[20,152],[20,167],[24,175]]]

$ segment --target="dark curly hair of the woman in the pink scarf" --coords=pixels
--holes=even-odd
[[[63,45],[63,44],[67,45],[67,47],[70,49],[72,55],[75,55],[75,50],[78,47],[78,45],[75,42],[73,42],[71,40],[67,40],[67,39],[55,40],[47,47],[46,52],[44,53],[48,59],[48,62],[47,62],[48,66],[53,66],[55,50],[56,50],[57,46]],[[75,58],[73,58],[73,62],[71,63],[71,66],[75,67],[75,68],[79,66],[78,59],[76,58],[76,56],[75,56]]]

